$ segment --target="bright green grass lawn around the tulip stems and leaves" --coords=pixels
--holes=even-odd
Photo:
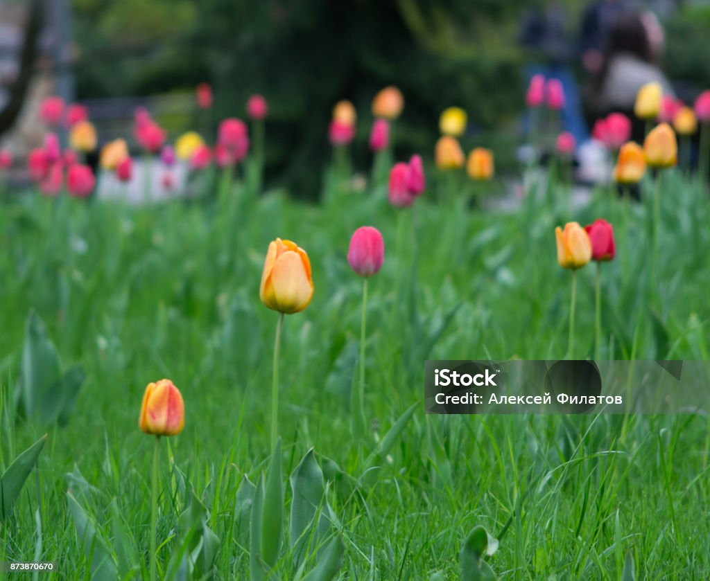
[[[153,439],[137,420],[146,384],[170,377],[186,422],[161,446],[158,570],[185,538],[178,518],[192,489],[221,540],[214,577],[249,578],[236,492],[244,475],[258,481],[271,453],[277,314],[259,302],[258,283],[268,243],[280,236],[307,250],[315,282],[312,304],[287,316],[283,331],[285,514],[288,475],[315,446],[345,545],[338,578],[418,580],[442,571],[458,579],[459,551],[477,525],[501,541],[487,561],[502,579],[618,580],[627,553],[638,578],[708,578],[706,418],[423,413],[427,358],[563,357],[571,282],[555,251],[554,227],[568,218],[562,189],[547,199],[538,193],[511,214],[468,210],[453,192],[435,204],[436,189],[403,214],[382,189],[333,196],[324,206],[278,192],[249,201],[241,189],[229,201],[131,209],[36,194],[6,199],[0,467],[45,431],[49,438],[0,525],[0,560],[52,560],[60,577],[89,579],[89,556],[103,543],[117,560],[117,547],[132,548],[133,574],[148,575]],[[650,204],[629,207],[600,190],[574,215],[582,224],[606,217],[616,231],[618,255],[603,265],[601,358],[709,358],[708,197],[676,172],[664,189],[655,280]],[[362,225],[381,229],[386,259],[368,288],[369,425],[360,438],[351,432],[350,390],[362,286],[346,252]],[[579,272],[577,297],[574,356],[591,357],[591,266]],[[14,417],[31,311],[47,324],[64,367],[79,363],[86,372],[67,426]],[[372,485],[359,482],[366,457],[417,402]],[[102,539],[88,550],[67,490]],[[283,525],[288,535],[288,519]],[[293,578],[281,555],[275,578]]]

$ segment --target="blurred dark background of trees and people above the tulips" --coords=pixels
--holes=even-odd
[[[396,155],[432,151],[439,114],[461,106],[466,137],[493,148],[505,170],[540,67],[569,75],[573,130],[588,136],[603,113],[594,87],[622,9],[653,15],[662,38],[649,58],[692,104],[710,87],[708,1],[0,0],[0,142],[18,156],[38,145],[38,104],[50,94],[87,105],[105,142],[126,136],[139,105],[175,138],[243,117],[248,96],[261,93],[267,184],[315,198],[332,156],[332,106],[355,104],[353,152],[366,167],[371,99],[395,84],[405,95]],[[214,92],[207,120],[195,106],[200,82]]]

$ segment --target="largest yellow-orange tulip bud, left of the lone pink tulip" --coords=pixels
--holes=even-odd
[[[310,260],[290,240],[276,238],[268,245],[261,273],[259,298],[273,311],[287,315],[305,309],[313,297]]]

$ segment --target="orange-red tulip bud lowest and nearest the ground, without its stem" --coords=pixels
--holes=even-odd
[[[149,383],[143,394],[138,427],[155,436],[175,436],[185,426],[182,394],[170,380]]]

